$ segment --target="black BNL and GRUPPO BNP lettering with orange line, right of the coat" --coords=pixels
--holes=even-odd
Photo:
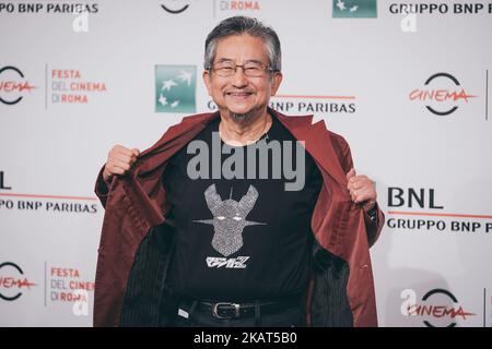
[[[445,213],[436,196],[433,188],[389,186],[386,226],[393,231],[492,232],[492,216]]]

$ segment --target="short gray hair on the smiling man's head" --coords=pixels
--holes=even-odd
[[[280,50],[280,40],[277,33],[269,26],[265,26],[257,19],[234,16],[223,20],[215,26],[206,40],[204,62],[206,70],[212,69],[215,59],[216,44],[220,39],[232,36],[249,34],[250,36],[260,38],[267,46],[268,64],[274,72],[281,71],[282,53]]]

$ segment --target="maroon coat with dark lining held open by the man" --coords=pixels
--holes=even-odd
[[[352,168],[347,142],[312,124],[313,117],[269,112],[298,141],[305,141],[323,174],[324,185],[311,222],[315,239],[307,321],[312,326],[377,326],[370,246],[376,241],[384,214],[372,222],[347,189]],[[96,194],[105,207],[95,279],[94,326],[172,325],[176,300],[167,288],[167,266],[174,230],[166,221],[168,204],[162,185],[167,160],[191,141],[219,112],[186,117],[143,152],[126,176],[110,188],[97,178]]]

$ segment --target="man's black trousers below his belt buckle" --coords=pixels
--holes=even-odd
[[[183,302],[175,320],[177,327],[305,327],[305,325],[304,309],[297,304],[289,304],[267,313],[261,313],[261,309],[258,308],[253,315],[218,318],[212,312],[197,306],[196,302]]]

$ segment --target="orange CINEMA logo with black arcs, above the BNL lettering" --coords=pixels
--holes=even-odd
[[[437,73],[430,76],[421,88],[414,88],[409,94],[413,103],[422,104],[435,116],[444,117],[454,113],[459,106],[469,103],[470,95],[459,81],[449,73]]]

